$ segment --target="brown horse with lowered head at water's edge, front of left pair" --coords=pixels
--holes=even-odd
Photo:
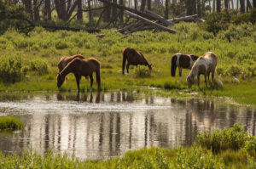
[[[67,64],[67,66],[61,70],[57,75],[57,86],[60,88],[62,83],[65,81],[65,76],[69,73],[73,73],[77,80],[78,90],[80,91],[79,83],[81,76],[90,76],[90,87],[93,83],[93,72],[96,72],[96,82],[98,89],[101,88],[101,75],[100,75],[101,65],[100,62],[95,58],[89,59],[73,59]]]

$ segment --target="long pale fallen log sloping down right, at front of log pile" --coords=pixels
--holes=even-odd
[[[159,29],[160,31],[168,31],[168,32],[170,32],[170,33],[176,33],[176,31],[174,31],[174,30],[172,30],[172,29],[170,29],[170,28],[168,28],[168,27],[166,27],[166,26],[163,26],[163,25],[159,25],[159,24],[157,24],[157,23],[154,23],[154,22],[152,22],[151,20],[148,20],[148,19],[146,19],[146,18],[143,18],[142,16],[139,16],[139,15],[137,15],[137,14],[133,14],[133,13],[131,13],[131,12],[129,12],[129,11],[125,11],[125,14],[128,14],[128,15],[130,15],[131,17],[136,18],[137,20],[143,21],[143,23],[146,24],[146,25],[153,25],[155,28]]]

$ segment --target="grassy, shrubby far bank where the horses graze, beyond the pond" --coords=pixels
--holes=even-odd
[[[103,90],[134,89],[137,86],[161,87],[172,93],[198,92],[201,95],[227,96],[241,104],[256,104],[255,25],[230,25],[226,31],[219,31],[216,36],[204,31],[201,25],[193,23],[177,24],[173,29],[177,34],[142,31],[140,34],[145,37],[127,38],[109,30],[102,31],[106,34],[102,38],[83,31],[49,32],[40,27],[30,32],[28,37],[16,31],[6,31],[0,37],[0,90],[58,90],[55,80],[56,65],[61,56],[83,54],[101,61]],[[130,66],[131,76],[118,73],[122,65],[122,49],[128,46],[141,50],[148,62],[153,64],[150,76],[142,75],[141,72],[146,70],[143,66]],[[201,89],[194,85],[188,90],[186,76],[189,70],[183,70],[182,77],[171,77],[173,54],[183,52],[202,55],[207,51],[218,56],[217,72],[224,87],[214,84],[206,88],[201,80]],[[234,82],[232,76],[239,78],[241,83]],[[83,78],[82,91],[89,89],[89,84]],[[67,82],[61,90],[76,89],[74,76],[67,76]]]

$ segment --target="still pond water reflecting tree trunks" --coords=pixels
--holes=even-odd
[[[0,132],[4,153],[33,148],[106,159],[127,150],[174,148],[204,129],[235,122],[256,135],[256,110],[224,99],[171,99],[136,92],[1,94],[0,115],[20,117],[20,132]]]

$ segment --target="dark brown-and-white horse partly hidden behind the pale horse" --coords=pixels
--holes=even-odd
[[[172,56],[171,75],[175,76],[176,68],[178,67],[178,75],[182,76],[182,68],[190,70],[196,59],[198,59],[198,56],[195,54],[174,54]]]

